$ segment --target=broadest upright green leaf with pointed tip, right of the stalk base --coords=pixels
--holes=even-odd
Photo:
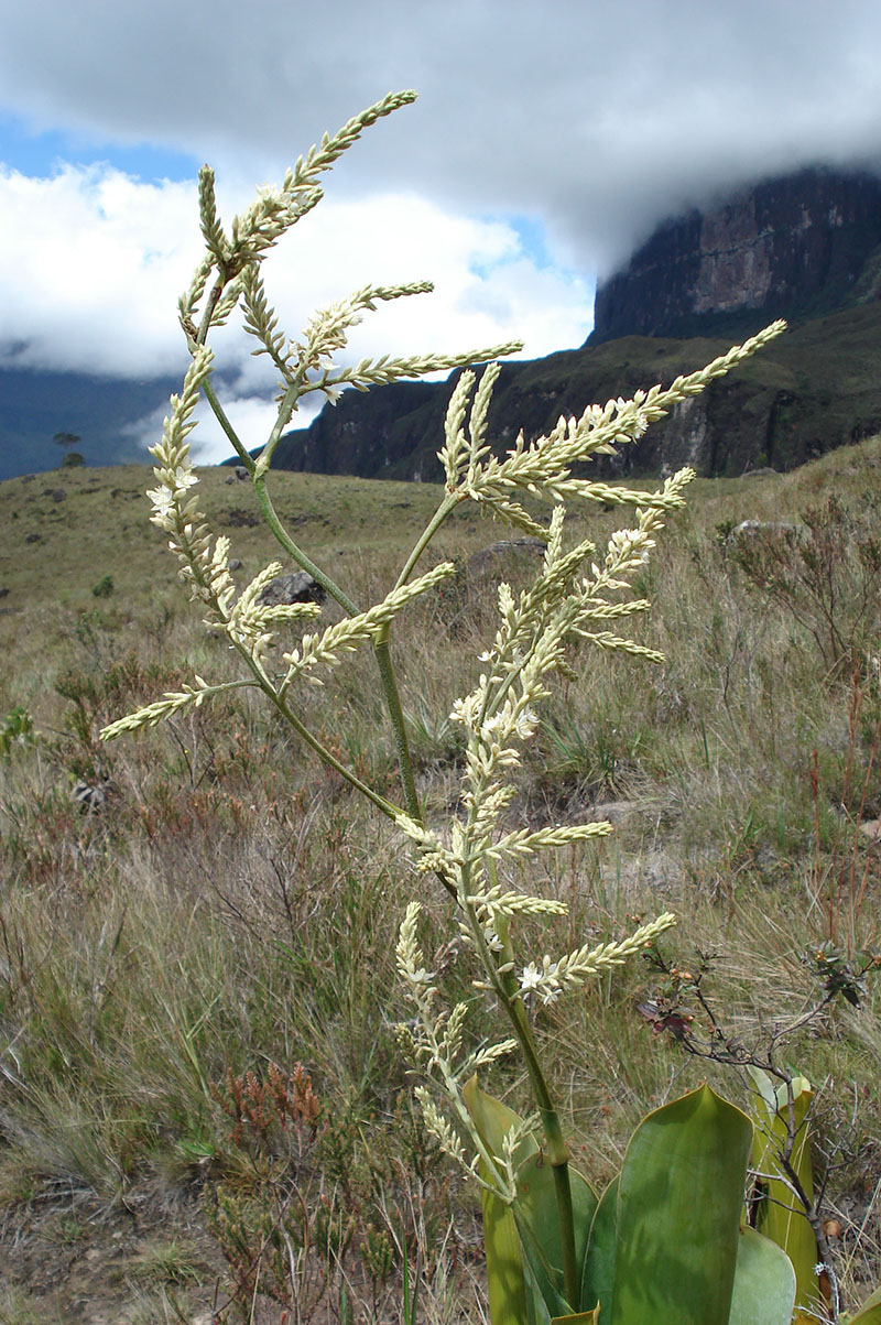
[[[706,1085],[643,1120],[621,1169],[608,1325],[729,1325],[751,1138]]]

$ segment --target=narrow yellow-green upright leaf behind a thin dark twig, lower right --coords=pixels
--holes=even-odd
[[[752,1167],[759,1174],[782,1174],[780,1154],[788,1145],[790,1106],[786,1084],[775,1086],[767,1072],[750,1068],[754,1085],[755,1116],[758,1126],[752,1138]],[[811,1083],[796,1076],[792,1080],[792,1122],[795,1125],[795,1145],[790,1163],[799,1175],[799,1182],[808,1196],[813,1195],[813,1170],[811,1165],[811,1138],[807,1113],[813,1100]],[[796,1306],[816,1306],[820,1285],[813,1267],[819,1260],[816,1238],[799,1200],[780,1178],[762,1178],[766,1199],[756,1210],[755,1227],[771,1242],[782,1247],[795,1269]]]

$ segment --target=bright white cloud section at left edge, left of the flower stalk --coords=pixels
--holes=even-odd
[[[191,184],[102,167],[0,174],[3,348],[20,367],[158,376],[181,363],[176,298],[199,254]]]

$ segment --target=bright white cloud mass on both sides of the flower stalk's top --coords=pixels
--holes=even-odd
[[[136,184],[113,171],[103,179],[95,171],[78,176],[65,171],[54,191],[54,180],[36,183],[46,186],[41,201],[52,199],[36,238],[37,249],[28,248],[25,261],[11,262],[3,276],[7,285],[15,285],[21,272],[16,298],[21,310],[28,302],[32,310],[32,323],[28,326],[23,318],[17,333],[32,338],[26,358],[40,364],[64,362],[70,368],[134,375],[175,368],[181,344],[175,302],[199,245],[187,236],[176,245],[159,246],[146,233],[142,217],[147,211],[156,236],[168,238],[180,223],[181,199],[195,207],[192,189]],[[244,199],[234,200],[241,205]],[[229,211],[233,197],[221,191],[221,207],[224,203]],[[50,233],[45,217],[52,217]],[[192,231],[191,216],[188,228]],[[21,232],[26,233],[24,227]],[[150,242],[152,256],[146,261]],[[46,250],[52,257],[42,265]],[[82,269],[68,276],[74,252],[87,253],[89,261],[98,265],[97,280]],[[103,253],[111,253],[113,261],[102,260]],[[387,352],[480,350],[518,338],[525,341],[526,355],[538,356],[583,342],[591,326],[592,289],[570,272],[539,265],[523,252],[513,225],[457,215],[415,195],[326,200],[278,244],[265,262],[264,276],[280,323],[290,335],[299,333],[315,307],[366,284],[435,281],[432,294],[380,303],[375,314],[367,314],[351,333],[352,360]],[[29,290],[34,284],[37,298]],[[61,329],[48,317],[58,290],[66,310]],[[273,370],[265,356],[252,356],[253,346],[234,325],[215,339],[217,367],[231,383],[220,394],[249,449],[266,439],[274,421]],[[305,427],[314,412],[314,407],[301,412],[294,424]],[[159,413],[132,424],[127,435],[138,441],[152,440],[160,425]],[[231,453],[207,411],[193,435],[193,452],[204,464]]]

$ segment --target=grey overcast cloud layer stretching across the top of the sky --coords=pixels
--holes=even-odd
[[[0,86],[36,127],[249,182],[415,86],[334,187],[541,215],[590,276],[707,189],[877,160],[880,46],[877,0],[29,0],[5,7]]]

